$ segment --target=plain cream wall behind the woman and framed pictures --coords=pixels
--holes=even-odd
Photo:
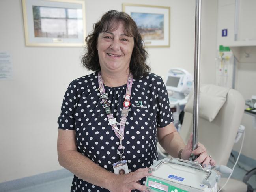
[[[86,29],[109,9],[136,0],[86,0]],[[194,13],[191,0],[141,0],[171,7],[171,47],[148,48],[152,72],[165,80],[172,67],[194,69]],[[100,6],[99,6],[100,5]],[[214,83],[217,2],[202,4],[201,82]],[[0,1],[0,51],[13,60],[13,80],[0,81],[0,183],[62,167],[56,154],[57,117],[65,89],[87,75],[80,65],[83,48],[26,47],[21,0]]]

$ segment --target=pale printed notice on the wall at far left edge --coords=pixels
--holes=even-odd
[[[11,80],[13,78],[13,63],[11,55],[0,52],[0,80]]]

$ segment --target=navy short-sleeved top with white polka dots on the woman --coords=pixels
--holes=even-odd
[[[77,150],[80,153],[114,172],[112,164],[119,160],[116,153],[119,140],[108,124],[101,105],[97,74],[83,76],[69,84],[58,125],[59,129],[76,131]],[[125,90],[126,84],[112,88],[105,86],[111,112],[117,122],[121,119]],[[156,128],[165,127],[173,121],[166,87],[159,76],[149,73],[133,79],[131,91],[131,106],[122,142],[125,146],[122,158],[127,160],[130,172],[149,167],[158,158]],[[144,185],[145,179],[140,182]],[[71,192],[83,191],[109,192],[74,175]]]

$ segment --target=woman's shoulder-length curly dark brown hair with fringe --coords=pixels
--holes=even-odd
[[[129,66],[133,78],[139,78],[140,76],[146,75],[150,71],[150,67],[146,64],[148,52],[144,49],[144,41],[138,32],[138,27],[135,21],[133,21],[127,13],[116,10],[108,11],[94,24],[93,32],[85,39],[86,53],[82,57],[82,64],[92,71],[101,70],[97,51],[98,36],[101,32],[116,30],[119,22],[123,23],[125,34],[133,37],[134,40],[134,48]]]

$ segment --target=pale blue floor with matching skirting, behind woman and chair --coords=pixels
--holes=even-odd
[[[242,162],[239,162],[239,165],[243,168],[236,166],[232,178],[242,181],[245,173],[247,173],[247,171],[252,167],[248,166],[248,164],[243,164]],[[233,166],[234,160],[230,158],[228,161],[228,167],[232,168]],[[227,176],[228,175],[222,175],[222,177]],[[50,173],[43,173],[39,176],[36,175],[33,177],[26,177],[24,179],[0,183],[0,192],[69,192],[72,179],[72,173],[63,169],[59,171],[52,171]],[[39,181],[44,182],[40,183]],[[256,188],[256,175],[252,176],[248,183],[250,183],[253,188]],[[256,190],[254,190],[254,192],[256,192]]]

